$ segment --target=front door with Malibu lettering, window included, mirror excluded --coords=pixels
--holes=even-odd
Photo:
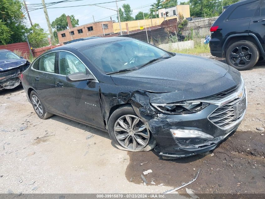
[[[66,75],[89,74],[86,66],[74,54],[61,51],[59,74],[56,75],[57,112],[100,128],[105,128],[99,104],[99,82],[96,80],[68,82]]]

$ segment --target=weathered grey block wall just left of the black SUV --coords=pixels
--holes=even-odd
[[[182,34],[187,36],[193,34],[193,37],[205,38],[206,35],[211,35],[210,27],[218,17],[192,20],[184,25]]]

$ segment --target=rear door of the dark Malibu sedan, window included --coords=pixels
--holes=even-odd
[[[45,103],[45,106],[55,112],[54,102],[57,97],[55,86],[55,64],[57,52],[43,55],[33,65],[33,86]]]

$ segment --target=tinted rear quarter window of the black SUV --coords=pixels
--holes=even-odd
[[[232,14],[228,17],[228,20],[244,19],[244,18],[253,17],[259,3],[260,1],[255,1],[252,3],[247,3],[244,5],[238,6],[232,12]]]

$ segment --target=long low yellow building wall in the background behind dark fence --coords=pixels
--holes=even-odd
[[[167,19],[174,19],[174,18],[177,18],[176,16],[175,17],[167,17]],[[142,27],[143,29],[145,29],[145,23],[146,23],[146,28],[149,28],[154,25],[160,25],[162,22],[164,21],[164,18],[154,18],[152,19],[146,19],[146,20],[135,20],[135,21],[124,21],[124,22],[121,22],[121,29],[123,31],[126,31],[126,23],[128,23],[128,27],[129,27],[129,31],[131,30],[137,30],[137,29],[140,29],[140,27]],[[114,33],[116,32],[119,32],[120,29],[119,29],[119,23],[112,23],[113,25],[113,31]]]

